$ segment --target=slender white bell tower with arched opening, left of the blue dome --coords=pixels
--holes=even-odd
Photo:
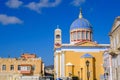
[[[57,25],[57,29],[55,29],[54,33],[54,48],[60,48],[62,39],[61,39],[61,29],[59,29],[59,26]]]

